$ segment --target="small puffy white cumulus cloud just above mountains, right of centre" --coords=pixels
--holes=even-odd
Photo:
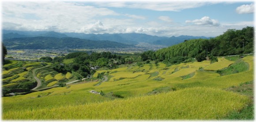
[[[193,23],[195,25],[219,25],[218,20],[211,19],[210,17],[203,17],[201,19],[187,20],[186,23]]]

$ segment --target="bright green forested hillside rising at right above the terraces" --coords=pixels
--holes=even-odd
[[[171,57],[211,57],[253,53],[254,27],[241,30],[228,29],[222,35],[211,39],[192,39],[183,43],[144,52],[144,60],[169,61]]]

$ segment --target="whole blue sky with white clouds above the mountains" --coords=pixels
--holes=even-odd
[[[254,26],[253,1],[94,1],[4,0],[2,28],[213,37],[227,29]]]

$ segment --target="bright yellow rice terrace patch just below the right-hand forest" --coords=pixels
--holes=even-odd
[[[226,60],[225,58],[218,58],[218,62],[215,62],[215,63],[205,67],[204,70],[215,71],[215,70],[219,70],[222,68],[226,68],[233,63],[234,63],[234,61],[229,61],[229,60]]]

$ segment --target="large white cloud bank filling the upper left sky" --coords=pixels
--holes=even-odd
[[[63,1],[3,2],[2,4],[4,29],[10,28],[4,25],[8,22],[17,25],[15,29],[19,30],[27,28],[31,31],[55,29],[54,31],[58,32],[77,32],[81,26],[96,22],[96,17],[120,15],[103,7]]]

